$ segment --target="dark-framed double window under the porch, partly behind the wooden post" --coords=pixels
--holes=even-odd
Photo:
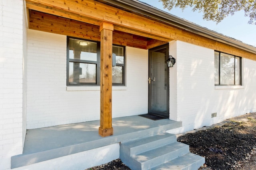
[[[112,85],[125,85],[125,48],[113,45]],[[100,42],[67,37],[67,86],[100,85]]]

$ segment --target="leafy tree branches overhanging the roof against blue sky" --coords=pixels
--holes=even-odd
[[[256,25],[256,0],[159,0],[164,8],[171,10],[173,7],[184,10],[188,6],[195,12],[203,12],[204,20],[212,20],[219,23],[228,15],[244,10],[244,16],[248,16],[248,23]]]

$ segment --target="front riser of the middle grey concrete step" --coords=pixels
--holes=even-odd
[[[182,147],[182,148],[179,148],[177,150],[175,150],[174,152],[170,152],[168,154],[164,154],[162,156],[158,156],[154,159],[151,159],[151,160],[148,160],[146,162],[144,162],[142,165],[141,165],[141,169],[142,170],[148,170],[150,168],[153,168],[155,166],[158,166],[160,164],[163,164],[165,162],[168,162],[170,160],[173,160],[179,156],[182,156],[186,153],[189,152],[189,146],[187,145],[186,147]]]

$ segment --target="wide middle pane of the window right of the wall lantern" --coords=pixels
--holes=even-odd
[[[220,84],[234,85],[234,56],[220,53]]]

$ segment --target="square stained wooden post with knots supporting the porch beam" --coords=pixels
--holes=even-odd
[[[114,25],[100,24],[100,127],[102,137],[113,135],[112,127],[112,32]]]

